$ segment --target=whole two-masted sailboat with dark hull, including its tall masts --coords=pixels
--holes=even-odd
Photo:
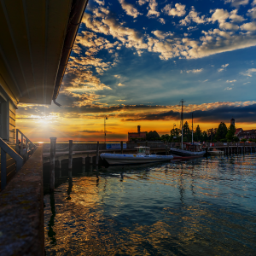
[[[170,153],[175,157],[178,156],[186,156],[186,157],[201,157],[206,154],[206,151],[203,150],[201,143],[193,142],[193,113],[192,113],[192,143],[183,143],[183,100],[182,103],[182,113],[181,113],[181,121],[182,121],[182,143],[181,148],[170,148]]]

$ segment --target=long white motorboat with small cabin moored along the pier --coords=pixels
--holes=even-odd
[[[137,154],[110,154],[102,153],[101,157],[107,160],[109,165],[131,165],[131,164],[147,164],[172,160],[172,155],[150,154],[149,147],[136,147]]]

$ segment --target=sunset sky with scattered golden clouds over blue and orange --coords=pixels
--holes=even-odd
[[[57,102],[18,105],[32,141],[127,140],[184,118],[256,129],[256,0],[90,0]]]

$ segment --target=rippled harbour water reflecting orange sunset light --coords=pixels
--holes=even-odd
[[[44,195],[47,255],[256,255],[256,154],[86,168]]]

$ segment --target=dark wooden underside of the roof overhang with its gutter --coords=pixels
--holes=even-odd
[[[0,84],[15,104],[56,99],[87,2],[0,2]]]

